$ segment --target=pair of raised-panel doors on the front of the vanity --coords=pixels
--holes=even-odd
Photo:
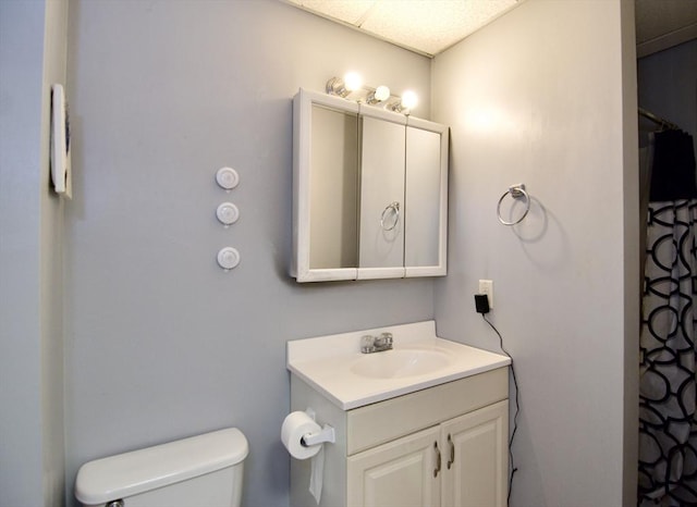
[[[348,457],[350,506],[503,507],[508,401]]]

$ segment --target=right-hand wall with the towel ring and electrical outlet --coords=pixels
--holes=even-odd
[[[493,280],[521,389],[512,506],[635,505],[634,61],[633,2],[528,0],[433,63],[452,144],[438,332],[498,350],[473,300]],[[506,227],[517,183],[530,211]]]

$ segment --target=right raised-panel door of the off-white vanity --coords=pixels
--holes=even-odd
[[[509,401],[442,424],[443,505],[504,507],[509,475]]]

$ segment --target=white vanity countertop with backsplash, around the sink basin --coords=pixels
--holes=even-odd
[[[424,373],[399,378],[371,378],[353,371],[360,353],[360,337],[390,332],[395,350],[432,350],[447,356],[447,364]],[[374,353],[390,354],[390,351]],[[464,379],[511,363],[493,354],[436,336],[436,322],[391,325],[351,333],[288,342],[288,369],[343,410],[382,401],[415,391]]]

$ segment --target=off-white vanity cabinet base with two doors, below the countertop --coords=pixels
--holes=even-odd
[[[497,368],[342,410],[291,375],[293,410],[331,424],[326,507],[503,507],[508,495],[509,371]],[[291,460],[291,505],[317,505],[309,460]]]

